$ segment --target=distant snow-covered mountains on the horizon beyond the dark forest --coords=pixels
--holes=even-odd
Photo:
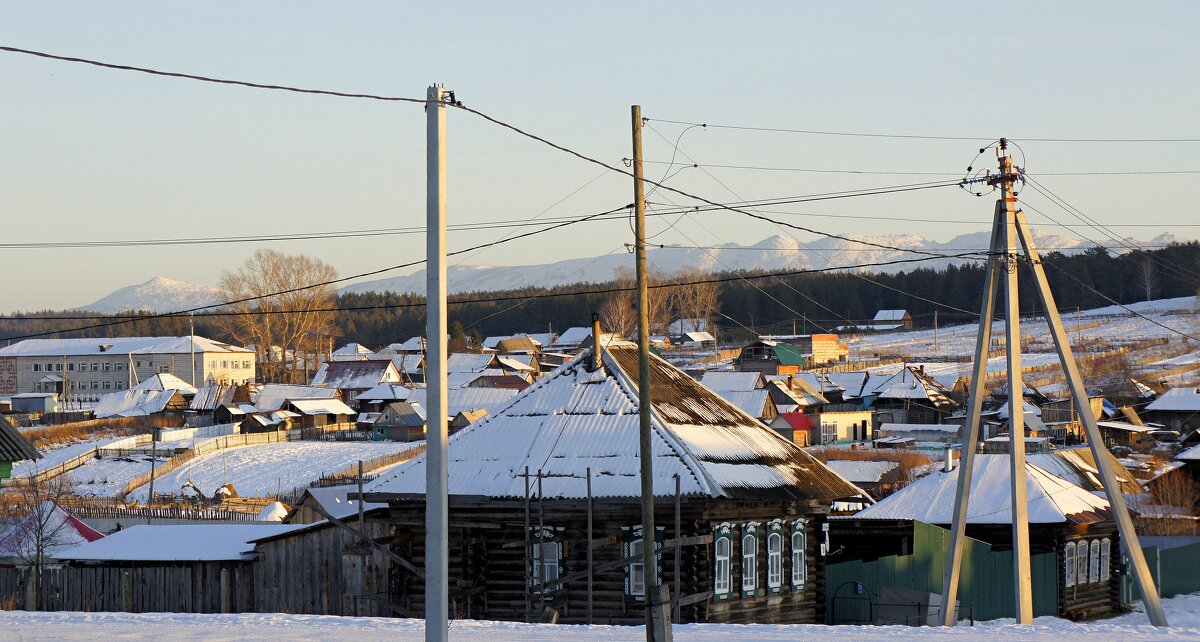
[[[989,232],[961,234],[947,242],[932,241],[916,235],[847,234],[846,236],[880,245],[953,254],[985,251],[988,248],[989,234]],[[1038,248],[1043,253],[1050,251],[1074,253],[1084,251],[1092,245],[1074,236],[1037,229],[1033,230],[1033,236]],[[1172,234],[1162,234],[1150,241],[1129,239],[1130,244],[1150,247],[1183,241],[1183,239],[1178,239]],[[763,239],[750,246],[724,244],[697,248],[668,245],[665,247],[654,247],[647,252],[647,260],[650,265],[667,274],[679,271],[684,268],[698,268],[706,272],[731,270],[808,270],[839,265],[887,263],[923,257],[924,254],[911,251],[871,247],[841,239],[820,239],[802,245],[796,239],[778,235]],[[924,263],[899,263],[894,265],[864,266],[860,269],[874,272],[899,272],[918,266],[944,268],[950,263],[960,263],[961,260],[937,259]],[[497,292],[529,286],[551,288],[572,283],[602,283],[611,281],[618,269],[631,269],[632,265],[634,258],[628,252],[566,259],[541,265],[456,265],[448,270],[449,290],[456,294],[464,292]],[[425,270],[408,276],[352,283],[342,288],[341,292],[424,293]],[[121,288],[98,301],[73,310],[106,313],[128,310],[169,312],[217,302],[220,301],[220,294],[221,290],[217,288],[158,276],[139,286]]]

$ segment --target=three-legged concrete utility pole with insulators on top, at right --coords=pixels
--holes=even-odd
[[[1021,332],[1020,310],[1018,307],[1018,266],[1020,254],[1024,248],[1025,258],[1028,259],[1031,270],[1037,283],[1038,294],[1045,310],[1046,324],[1054,337],[1055,347],[1058,350],[1058,359],[1063,372],[1067,374],[1067,383],[1074,398],[1075,408],[1084,421],[1087,431],[1087,440],[1092,449],[1092,456],[1100,472],[1105,494],[1112,515],[1117,521],[1117,529],[1122,541],[1129,550],[1129,558],[1134,569],[1134,576],[1142,590],[1146,604],[1146,613],[1151,624],[1165,626],[1166,617],[1163,613],[1158,590],[1154,587],[1150,569],[1146,565],[1145,554],[1134,532],[1133,521],[1126,508],[1124,496],[1104,442],[1100,439],[1099,428],[1096,426],[1096,418],[1087,408],[1087,390],[1084,388],[1084,379],[1079,373],[1074,354],[1070,349],[1070,341],[1062,325],[1058,307],[1050,292],[1050,283],[1045,278],[1042,259],[1033,247],[1033,236],[1028,224],[1025,222],[1025,214],[1016,209],[1015,184],[1021,180],[1020,168],[1013,164],[1013,158],[1007,154],[1007,142],[1002,138],[997,156],[1000,157],[1000,174],[988,179],[988,184],[998,186],[1001,199],[996,202],[996,212],[992,222],[991,246],[989,251],[988,268],[984,277],[984,296],[979,312],[979,334],[976,341],[974,367],[971,379],[971,392],[967,397],[967,416],[962,432],[962,457],[959,464],[958,488],[954,494],[954,512],[950,523],[950,550],[947,554],[946,572],[942,576],[942,622],[947,626],[953,626],[956,620],[955,602],[958,599],[959,578],[961,577],[962,548],[967,524],[967,506],[971,499],[971,479],[974,469],[974,455],[979,442],[979,412],[983,407],[983,397],[986,395],[984,383],[988,372],[988,349],[991,342],[991,318],[996,306],[996,288],[1004,272],[1004,325],[1006,325],[1006,352],[1008,354],[1008,409],[1009,409],[1009,457],[1012,473],[1012,512],[1013,512],[1013,580],[1015,589],[1016,622],[1018,624],[1030,624],[1033,620],[1033,590],[1032,574],[1030,568],[1030,540],[1028,540],[1028,502],[1026,497],[1025,475],[1025,386],[1021,382]],[[1020,241],[1020,246],[1018,245]]]

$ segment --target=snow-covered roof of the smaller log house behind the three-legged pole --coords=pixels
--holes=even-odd
[[[1079,486],[1026,462],[1030,523],[1091,523],[1111,520],[1109,503]],[[961,468],[937,470],[895,494],[864,509],[852,520],[916,520],[948,524],[954,512],[954,493]],[[971,478],[967,523],[1010,524],[1012,484],[1009,456],[976,455]]]

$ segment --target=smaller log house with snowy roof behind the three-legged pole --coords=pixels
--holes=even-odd
[[[913,522],[948,527],[959,468],[932,473],[853,516],[832,518],[839,560],[905,554]],[[1058,616],[1092,619],[1121,612],[1120,541],[1103,497],[1026,462],[1031,554],[1054,553]],[[966,535],[1012,550],[1012,479],[1008,455],[977,455]],[[1012,572],[1004,568],[1002,572]]]

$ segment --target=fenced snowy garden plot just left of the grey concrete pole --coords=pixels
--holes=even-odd
[[[346,469],[359,460],[409,448],[413,445],[395,442],[284,442],[230,448],[203,455],[161,475],[155,482],[155,491],[178,491],[192,480],[210,496],[220,486],[232,482],[239,496],[260,497],[307,486],[322,474]],[[144,502],[148,492],[149,488],[143,486],[130,493],[130,499]]]

